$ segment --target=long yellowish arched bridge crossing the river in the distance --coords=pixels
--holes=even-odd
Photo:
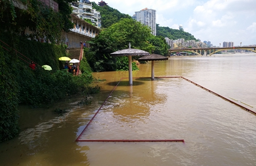
[[[209,50],[209,56],[212,54],[215,54],[217,52],[223,51],[223,50],[232,50],[232,49],[240,49],[240,50],[249,50],[251,52],[256,53],[256,46],[236,46],[232,48],[182,48],[182,49],[169,49],[169,53],[172,52],[193,52],[198,55],[202,55],[202,50],[204,50],[204,55],[207,55],[207,51]],[[199,52],[199,53],[198,53]]]

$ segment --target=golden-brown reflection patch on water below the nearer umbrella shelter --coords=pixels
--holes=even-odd
[[[110,102],[119,103],[118,106],[113,108],[114,118],[123,122],[135,122],[134,119],[145,121],[150,115],[151,107],[154,104],[165,102],[165,95],[155,92],[156,81],[151,81],[150,78],[143,78],[140,81],[143,81],[143,86],[126,86],[125,88],[118,86],[116,88],[117,91],[123,89],[126,93],[113,92],[113,100],[110,100]]]

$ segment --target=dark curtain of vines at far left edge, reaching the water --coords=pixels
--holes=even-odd
[[[8,56],[0,47],[0,142],[18,135],[16,63],[16,57]]]

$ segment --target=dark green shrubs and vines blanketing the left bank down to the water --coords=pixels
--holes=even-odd
[[[18,134],[18,104],[41,106],[74,94],[86,97],[99,92],[100,87],[92,84],[95,78],[90,72],[74,77],[62,70],[63,62],[58,58],[66,56],[64,45],[45,44],[3,33],[0,33],[0,39],[9,45],[0,41],[0,142]],[[17,41],[14,45],[13,39]],[[39,64],[35,70],[29,68],[30,60]],[[53,70],[41,68],[45,64]]]

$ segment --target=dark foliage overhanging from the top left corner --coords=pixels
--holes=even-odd
[[[24,34],[25,29],[29,29],[32,39],[46,37],[51,42],[60,41],[62,31],[70,30],[73,25],[69,20],[72,9],[68,5],[71,0],[56,2],[59,3],[58,12],[37,0],[0,1],[1,29],[13,35]]]

